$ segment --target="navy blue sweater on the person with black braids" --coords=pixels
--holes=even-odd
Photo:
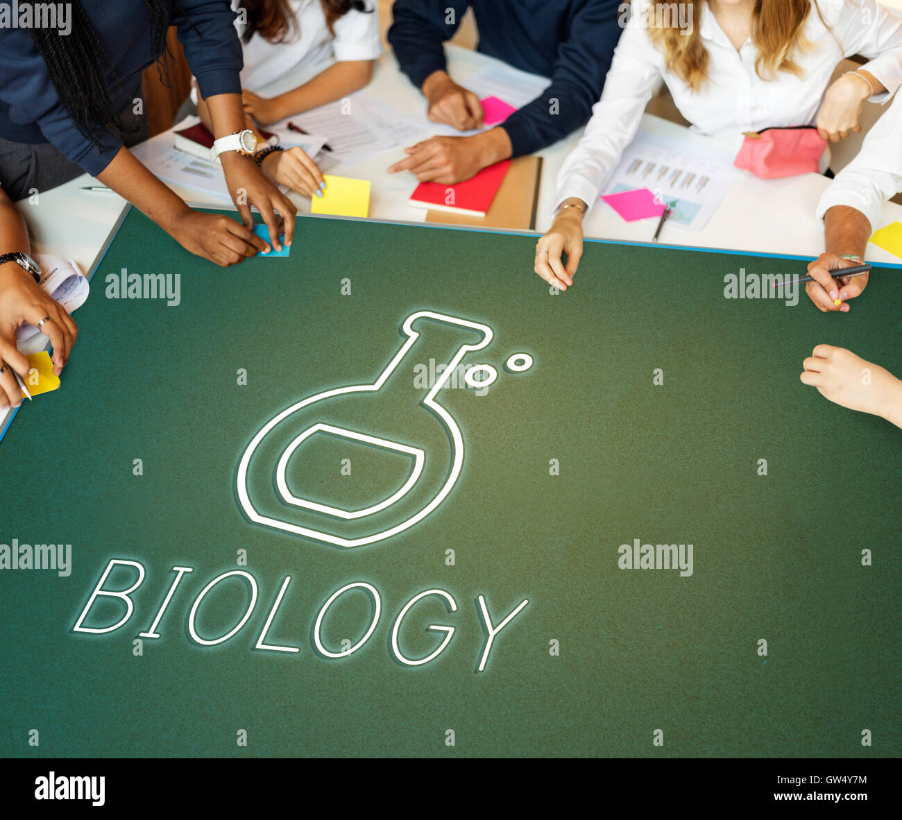
[[[198,78],[201,96],[240,93],[244,63],[228,0],[179,0],[178,4],[167,0],[166,5],[171,24],[179,27],[179,41]],[[82,6],[119,78],[109,88],[116,110],[121,111],[140,96],[141,72],[154,58],[144,0],[91,0]],[[118,137],[109,134],[102,141],[108,150],[101,151],[78,131],[60,105],[31,35],[19,28],[0,33],[0,137],[14,143],[52,143],[93,176],[106,168],[122,146]]]

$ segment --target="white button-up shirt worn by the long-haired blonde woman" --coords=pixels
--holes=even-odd
[[[813,124],[833,71],[845,57],[870,58],[863,68],[888,89],[871,97],[876,102],[887,101],[902,85],[902,20],[876,0],[819,0],[805,21],[811,47],[792,55],[803,75],[778,71],[771,79],[755,70],[758,49],[751,38],[737,51],[707,5],[699,6],[701,19],[695,24],[709,54],[709,79],[697,92],[667,70],[663,51],[637,23],[646,6],[654,4],[632,0],[631,21],[614,51],[602,98],[557,176],[556,206],[571,197],[594,205],[638,131],[658,78],[693,131],[734,142],[737,150],[742,132]]]

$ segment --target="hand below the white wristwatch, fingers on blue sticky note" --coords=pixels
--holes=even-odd
[[[251,206],[254,205],[269,228],[272,247],[281,251],[280,236],[283,230],[285,244],[290,247],[298,208],[266,178],[251,157],[227,151],[220,154],[220,160],[226,174],[226,185],[244,226],[253,228]]]

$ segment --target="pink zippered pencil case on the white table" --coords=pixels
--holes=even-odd
[[[762,180],[817,173],[826,147],[827,141],[814,125],[765,128],[757,134],[745,134],[733,165]]]

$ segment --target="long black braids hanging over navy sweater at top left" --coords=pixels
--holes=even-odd
[[[20,0],[20,8],[26,5],[32,6],[32,20],[39,19],[34,14],[35,4]],[[165,0],[144,0],[144,6],[151,28],[151,53],[157,60],[161,80],[169,85],[169,66],[161,60],[164,53],[170,53],[166,43],[170,25],[169,7]],[[108,77],[112,77],[119,88],[122,85],[97,37],[97,31],[80,0],[72,0],[70,7],[72,30],[69,35],[63,37],[50,27],[35,26],[31,29],[32,42],[47,66],[60,103],[78,130],[95,145],[99,145],[113,127],[125,133],[134,133],[137,126],[123,122],[110,94]]]

